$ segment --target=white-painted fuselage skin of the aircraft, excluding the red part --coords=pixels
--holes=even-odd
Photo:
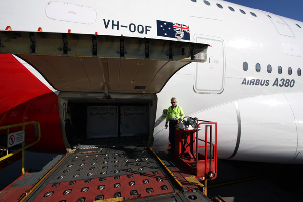
[[[205,2],[70,1],[69,7],[48,0],[27,8],[26,1],[12,1],[2,6],[10,12],[0,29],[177,41],[157,23],[189,26],[188,38],[179,40],[209,44],[208,60],[186,65],[157,94],[154,147],[168,146],[161,115],[176,97],[185,116],[218,123],[219,158],[302,164],[303,82],[297,71],[303,23],[222,0]],[[54,12],[58,8],[66,15]]]

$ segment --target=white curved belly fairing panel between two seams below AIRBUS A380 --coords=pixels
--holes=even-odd
[[[297,147],[292,109],[283,94],[239,100],[241,142],[235,160],[289,162]]]

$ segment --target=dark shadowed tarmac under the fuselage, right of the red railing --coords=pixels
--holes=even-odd
[[[303,166],[218,160],[218,177],[207,182],[207,196],[226,202],[303,201]]]

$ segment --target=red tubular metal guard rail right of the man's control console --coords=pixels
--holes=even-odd
[[[202,123],[199,123],[201,121]],[[197,132],[196,132],[196,169],[197,169],[197,177],[205,177],[205,180],[207,179],[215,179],[217,176],[217,123],[216,122],[210,122],[210,121],[204,121],[204,120],[197,120]],[[211,125],[212,124],[212,125]],[[205,140],[199,139],[199,127],[201,125],[205,125]],[[215,143],[213,144],[213,125],[215,125]],[[208,142],[208,128],[210,130],[210,141]],[[205,142],[205,145],[199,146],[199,140]],[[199,160],[199,148],[205,148],[205,155],[204,159]],[[208,148],[209,148],[209,165],[207,165],[208,161]],[[213,154],[212,154],[213,151]],[[212,158],[212,155],[214,157]],[[204,161],[204,162],[203,162]],[[214,162],[214,165],[212,167],[212,161]],[[204,169],[201,167],[199,163],[204,163]],[[207,167],[208,166],[208,167]],[[214,170],[212,170],[212,168]],[[213,171],[214,176],[209,177],[209,172],[207,170]],[[203,173],[202,173],[203,172]]]

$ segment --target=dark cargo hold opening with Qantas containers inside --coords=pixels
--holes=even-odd
[[[58,100],[66,148],[153,144],[155,94],[120,93],[106,97],[104,93],[60,92]],[[72,127],[67,123],[68,106]]]

